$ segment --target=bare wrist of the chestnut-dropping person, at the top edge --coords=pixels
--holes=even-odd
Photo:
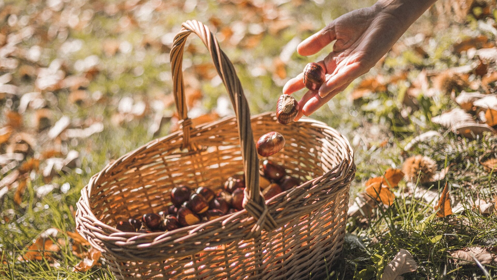
[[[399,19],[407,30],[436,0],[378,0],[373,8],[389,13]]]

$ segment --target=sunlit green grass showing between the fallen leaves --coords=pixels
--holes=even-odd
[[[155,1],[157,2],[157,1]],[[163,102],[171,93],[170,68],[168,65],[167,42],[170,35],[179,30],[180,23],[186,19],[199,19],[214,26],[219,23],[216,35],[220,36],[223,27],[242,26],[246,28],[246,38],[240,41],[224,40],[221,47],[234,62],[250,102],[252,114],[273,111],[281,88],[289,77],[297,75],[308,61],[317,61],[326,55],[326,50],[312,57],[300,57],[293,53],[285,62],[286,78],[274,74],[273,58],[278,57],[281,49],[297,37],[303,39],[318,30],[331,18],[348,10],[368,5],[368,1],[351,1],[348,4],[338,1],[326,1],[323,4],[305,2],[294,7],[293,1],[282,4],[271,4],[276,11],[291,19],[289,26],[274,33],[264,33],[262,36],[250,34],[248,30],[256,30],[257,24],[264,30],[277,27],[276,22],[263,17],[269,14],[261,12],[260,7],[250,4],[231,2],[196,2],[195,9],[190,9],[183,1],[163,1],[153,12],[147,13],[146,3],[154,1],[127,1],[129,6],[117,5],[117,12],[110,1],[100,0],[83,2],[82,6],[75,3],[62,2],[60,9],[49,7],[45,3],[29,1],[5,1],[4,6],[10,7],[10,14],[16,14],[17,20],[23,16],[35,27],[34,35],[16,47],[19,50],[29,50],[34,45],[42,47],[42,55],[37,62],[24,58],[16,58],[19,66],[14,69],[0,69],[0,74],[12,73],[11,84],[19,86],[21,94],[37,91],[34,86],[36,75],[23,77],[20,66],[47,67],[54,59],[60,58],[67,64],[67,75],[83,75],[86,70],[76,67],[90,55],[98,57],[99,72],[95,74],[87,87],[83,87],[89,98],[82,103],[70,102],[68,88],[54,91],[42,90],[42,99],[53,114],[52,124],[62,116],[68,116],[74,123],[90,120],[102,122],[104,131],[84,139],[62,140],[62,149],[75,149],[80,152],[81,165],[68,173],[61,172],[47,182],[41,175],[41,170],[31,172],[30,180],[19,204],[14,202],[15,190],[9,190],[0,199],[0,278],[5,279],[114,279],[105,263],[81,273],[73,272],[73,267],[80,262],[69,244],[66,231],[74,231],[74,210],[80,197],[80,190],[88,182],[91,175],[98,172],[110,160],[135,149],[154,139],[149,132],[155,114],[171,117],[174,106],[165,108],[158,104]],[[317,1],[319,2],[319,1]],[[103,7],[107,6],[107,9]],[[27,8],[25,8],[27,7]],[[323,7],[332,7],[329,12],[323,12]],[[267,7],[266,7],[267,8]],[[50,28],[67,22],[65,17],[58,17],[62,11],[79,11],[80,20],[83,14],[90,14],[90,20],[77,28],[61,27],[59,35],[52,40],[44,36]],[[140,11],[143,9],[144,12]],[[7,10],[6,8],[3,10]],[[28,13],[28,11],[31,11]],[[40,13],[36,13],[37,11]],[[57,15],[42,18],[42,11]],[[150,15],[150,16],[149,16]],[[244,17],[245,15],[245,17]],[[248,16],[250,15],[250,16]],[[2,14],[6,22],[7,15]],[[45,17],[43,17],[45,18]],[[127,19],[135,21],[128,21]],[[22,20],[21,20],[22,19]],[[415,98],[416,109],[409,109],[403,97],[407,89],[420,75],[422,69],[439,71],[448,67],[469,65],[474,58],[467,55],[456,55],[448,49],[463,36],[474,37],[480,34],[495,41],[495,35],[483,23],[492,23],[492,17],[480,21],[469,18],[467,24],[452,24],[445,28],[442,34],[434,33],[431,18],[423,16],[405,37],[416,32],[432,35],[431,44],[423,45],[428,57],[421,57],[410,48],[396,48],[389,53],[385,62],[375,67],[363,78],[395,75],[407,72],[408,77],[401,82],[387,85],[387,89],[375,92],[360,100],[351,101],[351,89],[334,98],[328,106],[316,112],[313,118],[328,123],[344,134],[353,143],[356,151],[357,176],[351,185],[351,198],[364,189],[364,182],[371,176],[383,174],[389,167],[400,167],[409,155],[423,154],[432,157],[440,166],[439,170],[452,164],[444,181],[434,184],[416,185],[418,190],[430,188],[440,192],[445,181],[451,186],[451,195],[461,201],[464,211],[448,218],[436,218],[430,203],[414,196],[399,197],[390,207],[378,207],[374,218],[349,219],[344,244],[344,258],[333,265],[329,271],[329,279],[376,279],[383,267],[392,260],[400,249],[407,249],[418,264],[414,273],[403,275],[406,279],[495,279],[497,270],[494,265],[457,266],[449,252],[468,246],[497,246],[497,216],[483,216],[469,207],[470,197],[491,200],[496,195],[497,177],[488,173],[479,163],[482,156],[497,156],[497,138],[495,135],[485,135],[482,139],[468,140],[431,123],[431,116],[439,115],[457,104],[446,95],[426,97],[423,94]],[[487,20],[487,21],[486,21]],[[270,23],[265,23],[270,22]],[[248,23],[245,25],[245,23]],[[66,26],[62,24],[61,26]],[[250,25],[252,24],[252,25]],[[273,26],[274,25],[274,26]],[[7,25],[5,25],[7,26]],[[252,29],[249,28],[251,26]],[[428,26],[428,28],[426,28]],[[15,33],[22,26],[13,24],[5,27],[7,33]],[[66,29],[65,29],[66,28]],[[431,30],[428,30],[430,29]],[[65,31],[64,31],[65,30]],[[66,35],[65,35],[66,34]],[[166,34],[166,35],[165,35]],[[169,37],[168,37],[169,36]],[[144,38],[150,39],[150,46]],[[115,40],[120,45],[120,51],[114,55],[106,55],[105,49]],[[250,40],[256,43],[250,45]],[[259,40],[259,41],[257,41]],[[201,82],[198,87],[203,92],[199,101],[197,113],[203,114],[217,106],[220,96],[225,95],[224,88],[216,80],[205,78],[208,70],[202,75],[194,75],[193,66],[210,63],[204,47],[198,39],[191,40],[185,55],[185,71],[192,75],[191,83]],[[128,42],[128,43],[124,43]],[[233,43],[235,42],[235,43]],[[80,44],[75,51],[61,52],[69,47],[64,43]],[[131,50],[129,50],[131,45]],[[129,50],[129,52],[127,52]],[[330,50],[328,48],[327,50]],[[22,51],[20,53],[22,53]],[[194,55],[192,55],[192,53]],[[18,55],[18,54],[15,54]],[[15,57],[15,56],[14,56]],[[78,62],[79,61],[79,62]],[[80,70],[79,70],[80,69]],[[495,70],[491,64],[490,71]],[[198,71],[198,70],[197,70]],[[140,74],[141,73],[141,74]],[[470,79],[477,79],[470,77]],[[351,88],[357,86],[356,82]],[[300,96],[302,93],[298,93]],[[90,98],[101,95],[101,98]],[[19,96],[2,96],[0,94],[0,127],[6,123],[3,112],[17,110],[20,105]],[[150,105],[144,117],[133,117],[130,120],[116,122],[119,116],[119,102],[124,97],[133,98],[134,102],[144,101]],[[158,106],[159,109],[156,109]],[[38,139],[36,150],[29,157],[39,157],[39,154],[55,143],[42,142],[48,131],[36,132],[32,119],[35,109],[28,108],[23,114],[23,127],[20,130]],[[193,113],[194,114],[194,113]],[[117,117],[116,117],[117,116]],[[191,116],[192,117],[192,116]],[[169,132],[167,123],[159,135]],[[435,130],[443,135],[439,140],[420,143],[413,150],[405,152],[403,147],[417,135]],[[5,146],[0,146],[4,152]],[[44,167],[41,163],[41,169]],[[8,173],[8,172],[7,172]],[[4,175],[7,175],[5,173]],[[3,177],[3,175],[0,175]],[[42,194],[47,184],[53,189],[48,194]],[[69,187],[68,187],[69,186]],[[401,182],[398,192],[406,188]],[[17,257],[26,254],[26,246],[41,232],[48,228],[57,228],[61,232],[54,239],[59,244],[60,251],[54,252],[51,259],[41,261],[20,262]]]

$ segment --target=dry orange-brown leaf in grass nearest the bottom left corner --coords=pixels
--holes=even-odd
[[[24,255],[17,258],[18,261],[41,261],[43,258],[51,260],[53,253],[59,252],[60,248],[52,239],[57,237],[59,230],[48,229],[41,233],[31,245],[26,249]]]

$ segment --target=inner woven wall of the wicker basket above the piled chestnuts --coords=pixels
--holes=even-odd
[[[266,113],[252,118],[252,130],[255,140],[270,131],[281,133],[284,149],[268,158],[303,181],[323,175],[343,158],[338,154],[342,149],[336,148],[340,143],[317,123],[284,126],[275,121],[274,113]],[[199,146],[197,151],[180,149],[178,132],[151,141],[108,167],[91,189],[89,204],[95,217],[113,226],[122,219],[163,210],[170,204],[170,190],[178,184],[216,191],[228,177],[243,173],[234,117],[193,129],[190,140]]]

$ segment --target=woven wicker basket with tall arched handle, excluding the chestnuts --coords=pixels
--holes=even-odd
[[[190,33],[209,49],[236,117],[192,127],[181,72]],[[93,175],[78,202],[78,232],[102,252],[117,279],[325,277],[343,243],[348,189],[355,174],[349,142],[311,119],[286,126],[276,122],[274,113],[250,119],[232,63],[200,22],[183,23],[170,56],[182,131],[153,140]],[[286,145],[269,158],[305,183],[264,202],[254,137],[273,130],[285,137]],[[218,190],[241,171],[247,184],[242,211],[170,232],[114,228],[118,220],[164,209],[178,184]]]

